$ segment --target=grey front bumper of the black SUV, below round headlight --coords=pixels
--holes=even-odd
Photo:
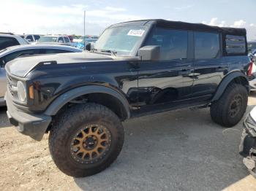
[[[30,136],[37,141],[41,141],[52,118],[45,114],[29,114],[21,111],[12,104],[8,93],[5,95],[5,100],[7,104],[7,116],[10,123],[14,125],[20,133]]]

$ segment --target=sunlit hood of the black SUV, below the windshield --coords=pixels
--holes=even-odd
[[[5,69],[12,75],[26,77],[32,69],[42,64],[62,63],[86,63],[97,61],[111,61],[110,55],[102,55],[93,52],[61,53],[55,55],[34,55],[25,58],[16,58],[6,64]]]

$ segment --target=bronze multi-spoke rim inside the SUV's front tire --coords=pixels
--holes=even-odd
[[[70,146],[72,157],[79,163],[95,163],[110,149],[111,134],[103,125],[87,125],[73,136]]]

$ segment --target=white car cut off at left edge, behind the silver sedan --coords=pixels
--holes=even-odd
[[[21,44],[29,44],[29,42],[24,40],[19,35],[11,33],[0,33],[0,50]]]

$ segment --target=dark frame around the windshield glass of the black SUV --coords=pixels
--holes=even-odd
[[[143,44],[143,42],[145,42],[145,39],[147,38],[148,34],[150,33],[151,31],[151,28],[153,27],[153,25],[141,25],[141,26],[138,26],[138,25],[124,25],[124,26],[110,26],[108,28],[106,28],[102,34],[105,33],[105,31],[107,31],[108,29],[110,28],[124,28],[124,27],[143,27],[145,29],[145,32],[143,34],[143,36],[141,36],[140,40],[138,41],[137,45],[135,45],[135,47],[132,48],[132,51],[129,52],[129,54],[124,54],[124,52],[121,52],[121,51],[118,51],[118,50],[113,50],[111,52],[115,52],[115,55],[120,55],[120,56],[136,56],[138,55],[138,50],[140,49],[141,45]],[[99,36],[99,39],[102,37],[102,34]],[[112,55],[111,52],[101,52],[100,50],[94,50],[95,52],[97,53],[102,53],[102,54],[110,54]]]

